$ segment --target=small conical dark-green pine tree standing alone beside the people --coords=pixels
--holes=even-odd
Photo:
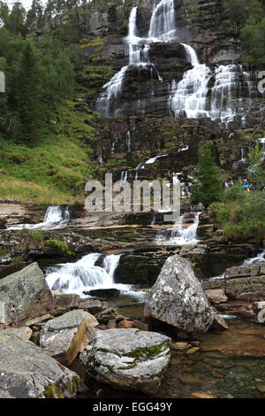
[[[223,192],[222,179],[209,147],[201,151],[198,171],[198,185],[193,189],[192,204],[203,204],[208,207],[220,199]]]

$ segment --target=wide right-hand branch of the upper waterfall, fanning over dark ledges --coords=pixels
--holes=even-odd
[[[216,120],[223,127],[228,128],[236,116],[241,117],[241,124],[245,119],[242,109],[237,104],[242,103],[242,89],[246,95],[255,94],[254,81],[251,74],[242,69],[242,65],[220,65],[212,72],[206,65],[201,65],[195,50],[182,43],[186,49],[187,59],[193,69],[184,74],[182,81],[172,81],[169,98],[170,111],[175,117],[199,119],[208,117]],[[214,86],[209,87],[211,80]],[[245,87],[245,88],[244,88]]]

